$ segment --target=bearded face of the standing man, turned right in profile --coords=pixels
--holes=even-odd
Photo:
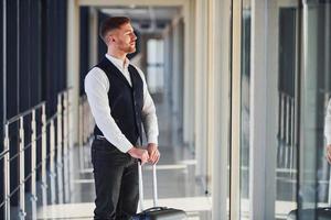
[[[136,52],[137,36],[130,23],[122,24],[120,29],[115,30],[110,41],[115,47],[126,54]]]

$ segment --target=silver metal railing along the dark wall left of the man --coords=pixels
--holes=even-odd
[[[10,201],[14,194],[19,193],[19,219],[25,219],[25,184],[28,180],[30,184],[30,201],[31,201],[31,216],[29,219],[36,219],[36,182],[38,174],[41,176],[41,194],[42,206],[49,204],[47,190],[50,190],[50,202],[56,202],[56,185],[57,180],[57,202],[66,202],[71,199],[71,193],[73,190],[71,173],[72,173],[72,144],[70,144],[70,114],[71,114],[71,89],[67,89],[57,95],[57,111],[46,121],[46,103],[41,102],[30,110],[20,113],[12,119],[9,119],[4,124],[4,140],[3,152],[0,154],[0,162],[3,164],[3,201],[0,202],[0,208],[3,207],[3,219],[9,220],[11,206]],[[38,113],[40,112],[40,113]],[[41,123],[36,123],[41,121]],[[56,131],[55,131],[56,122]],[[19,124],[18,145],[19,150],[14,155],[11,155],[11,138],[17,135],[10,131],[10,125]],[[30,142],[25,143],[25,138],[29,135],[25,127],[31,127]],[[40,133],[38,133],[40,131]],[[56,142],[55,142],[55,136]],[[47,138],[50,139],[47,144]],[[38,144],[40,142],[40,144]],[[47,145],[50,146],[47,150]],[[41,148],[39,148],[41,147]],[[25,154],[31,155],[31,164],[29,174],[25,176]],[[38,163],[36,156],[40,155]],[[55,162],[56,157],[56,162]],[[19,184],[10,190],[10,175],[11,175],[11,162],[18,158],[19,162]],[[47,180],[46,167],[50,167]],[[28,166],[29,168],[29,166]],[[55,172],[56,168],[56,172]],[[64,179],[63,179],[64,177]],[[50,187],[49,187],[50,183]],[[1,218],[0,218],[1,219]],[[17,219],[17,218],[14,218]]]

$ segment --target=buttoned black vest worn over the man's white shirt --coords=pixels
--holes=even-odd
[[[110,113],[124,135],[136,145],[141,135],[141,110],[143,106],[143,82],[138,70],[129,65],[131,85],[122,73],[106,57],[96,65],[103,69],[109,80],[108,100]],[[96,125],[95,135],[104,135]]]

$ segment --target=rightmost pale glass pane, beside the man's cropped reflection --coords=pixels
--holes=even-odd
[[[323,121],[331,88],[331,2],[303,2],[303,69],[300,132],[300,208],[325,207],[330,166],[324,157]],[[323,219],[314,209],[300,219]],[[318,218],[319,217],[319,218]],[[325,219],[325,218],[324,218]]]

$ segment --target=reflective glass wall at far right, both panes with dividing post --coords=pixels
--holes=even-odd
[[[299,219],[318,219],[329,200],[323,120],[331,87],[328,1],[278,8],[278,133],[276,219],[299,208]]]

